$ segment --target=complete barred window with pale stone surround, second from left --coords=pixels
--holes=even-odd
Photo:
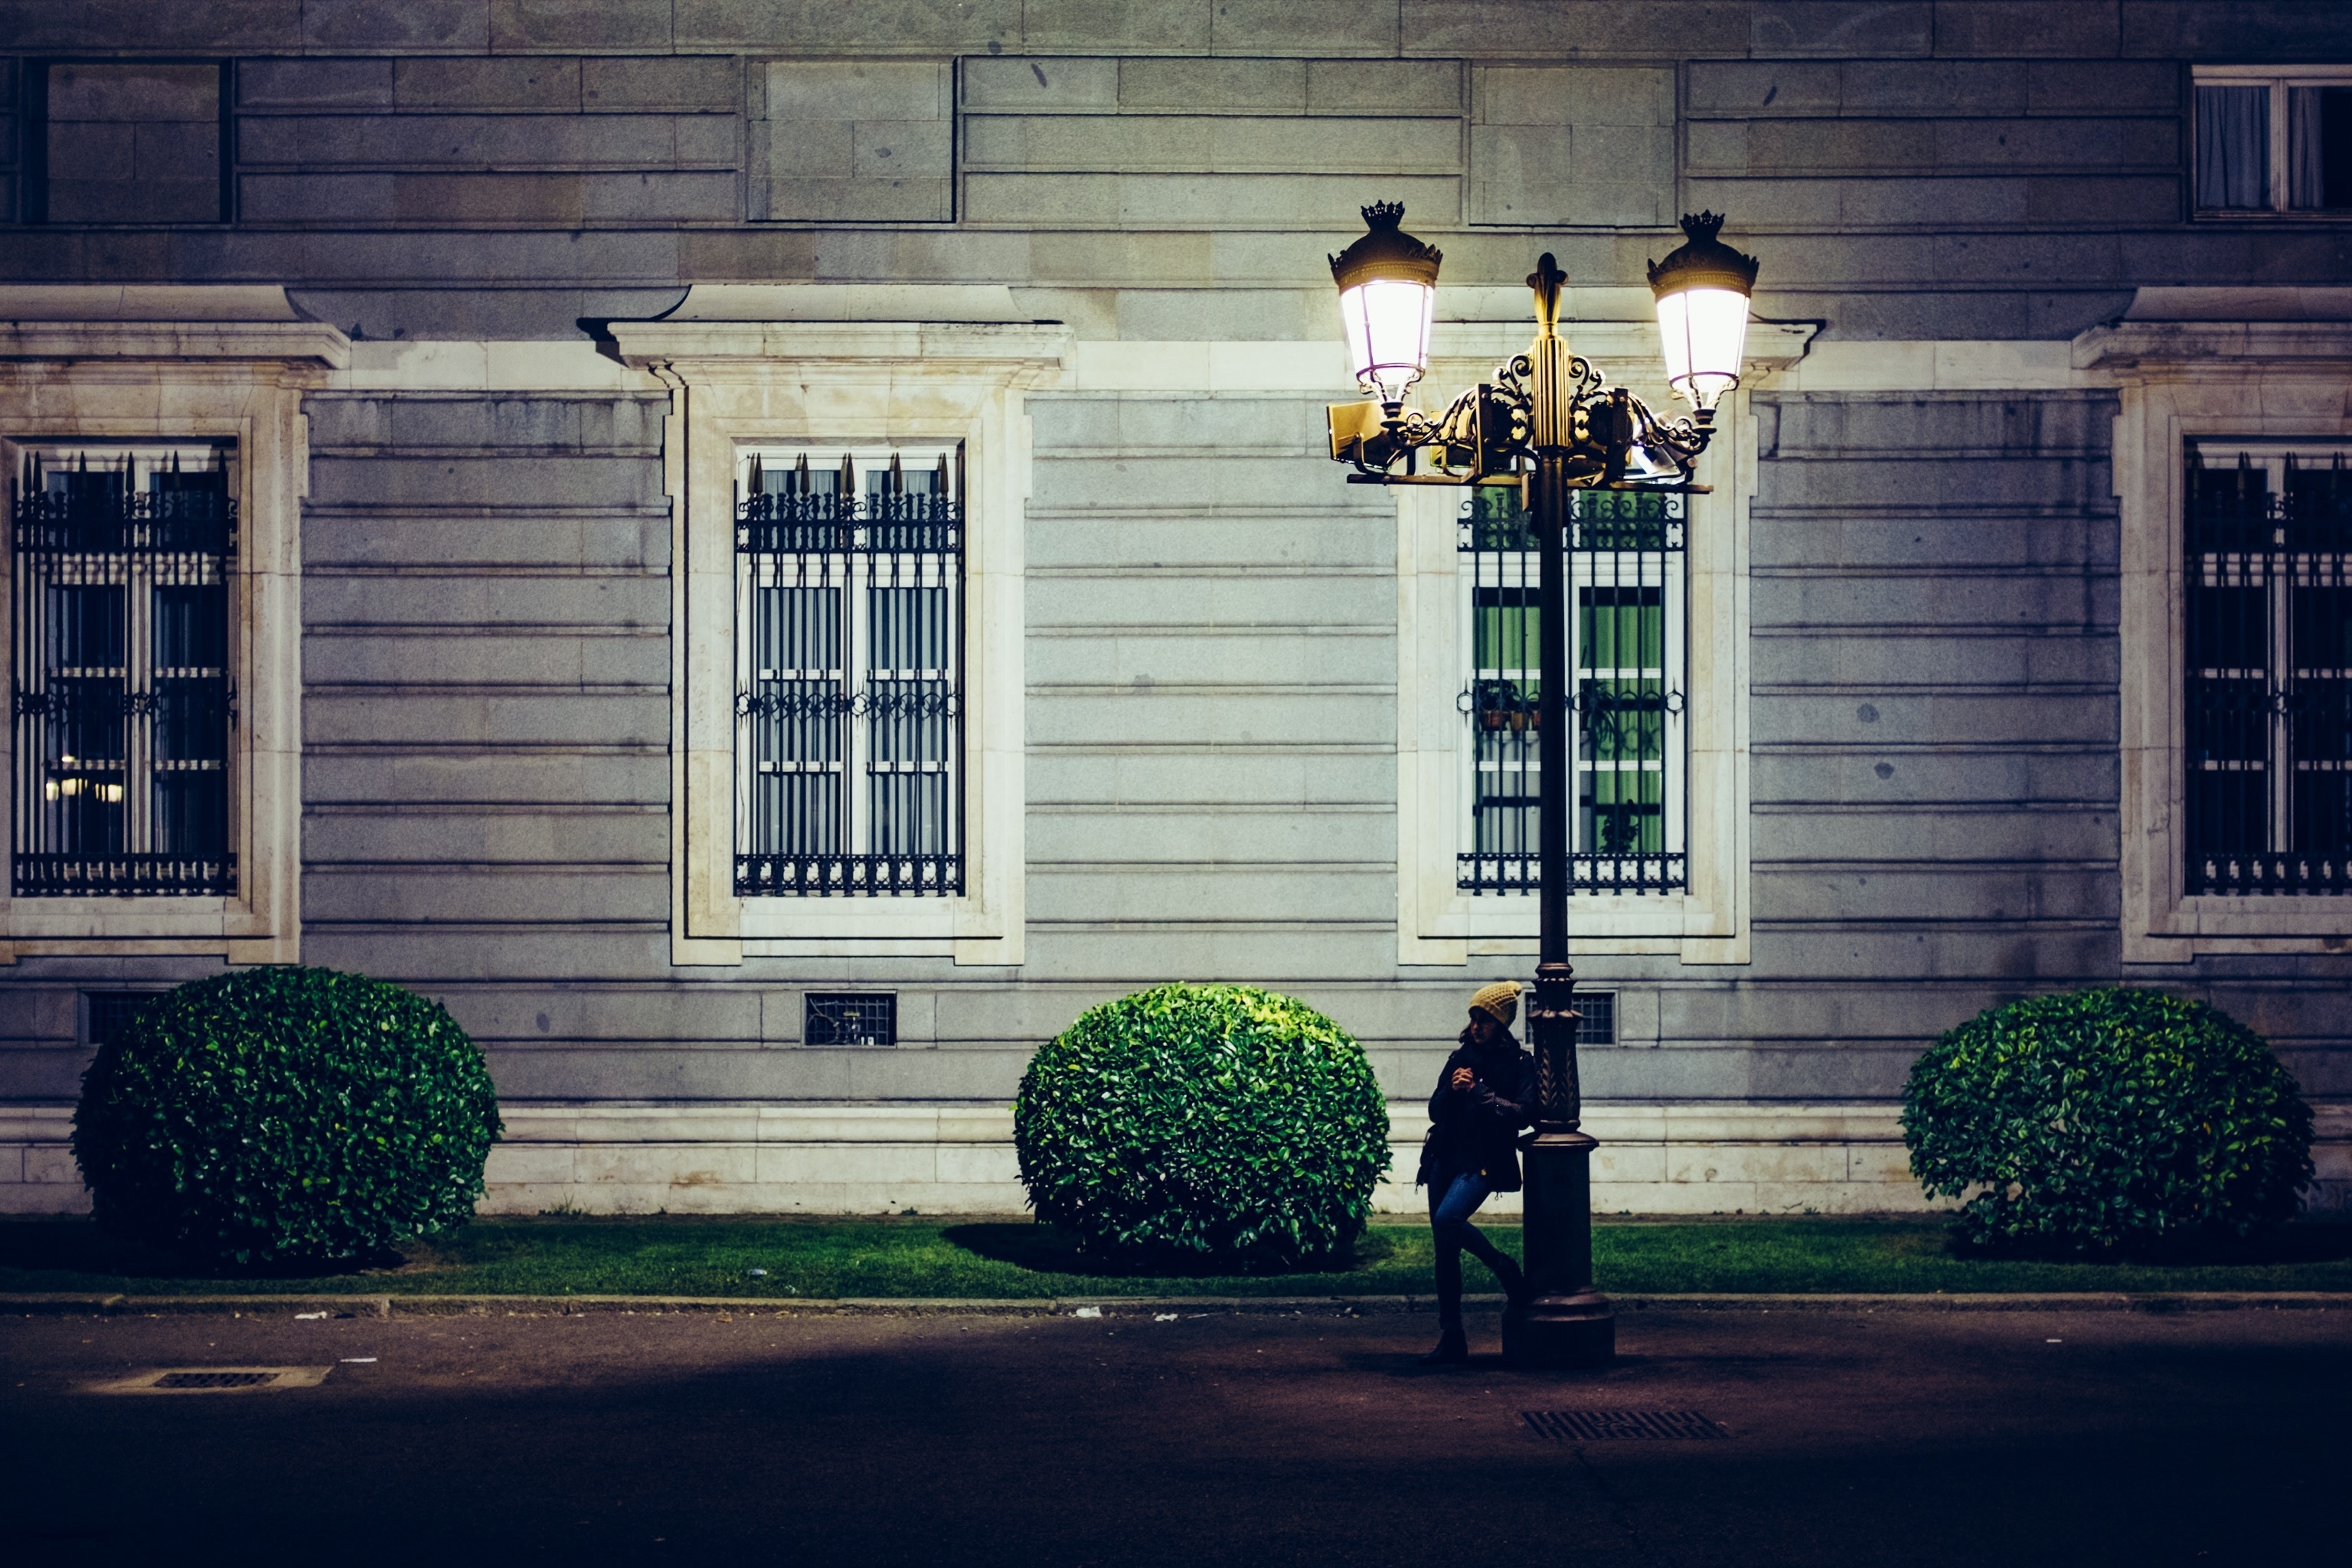
[[[612,322],[673,395],[673,964],[1023,961],[1025,395],[1075,350],[1009,294],[880,294],[957,315],[696,284]]]

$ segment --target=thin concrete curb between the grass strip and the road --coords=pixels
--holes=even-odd
[[[1501,1295],[1465,1295],[1496,1309]],[[1618,1295],[1618,1312],[2328,1312],[2352,1309],[2352,1291],[2053,1291],[1966,1295]],[[1374,1316],[1435,1312],[1432,1295],[1056,1295],[1035,1300],[774,1295],[89,1295],[73,1291],[0,1293],[14,1316],[569,1316],[774,1312],[776,1316]]]

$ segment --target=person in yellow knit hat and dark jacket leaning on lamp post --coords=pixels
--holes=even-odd
[[[1470,1359],[1463,1248],[1494,1269],[1512,1305],[1526,1295],[1519,1265],[1470,1225],[1489,1192],[1519,1190],[1519,1128],[1536,1121],[1536,1058],[1510,1034],[1517,1016],[1519,987],[1510,980],[1470,997],[1470,1025],[1430,1095],[1418,1175],[1430,1190],[1430,1234],[1437,1239],[1437,1349],[1421,1356],[1430,1363]]]

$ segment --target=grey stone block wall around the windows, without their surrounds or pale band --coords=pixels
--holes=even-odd
[[[2340,226],[2192,223],[2183,188],[2187,63],[2352,59],[2347,7],[0,0],[0,92],[125,40],[235,61],[235,221],[52,209],[0,282],[270,282],[358,339],[468,341],[581,341],[694,282],[1004,282],[1084,339],[1294,341],[1331,336],[1352,209],[1404,197],[1472,287],[1536,249],[1630,287],[1675,212],[1731,212],[1759,313],[1823,343],[2352,284]],[[0,146],[9,190],[26,158]],[[306,959],[445,997],[515,1098],[1002,1100],[1160,978],[1294,990],[1418,1093],[1465,976],[1395,964],[1395,522],[1315,404],[1033,402],[1009,978],[668,964],[659,400],[315,397]],[[1886,1098],[1976,1009],[2117,978],[2352,1093],[2343,954],[2119,961],[2112,400],[1759,414],[1755,961],[1583,964],[1623,1016],[1592,1093]],[[0,973],[0,1098],[73,1093],[78,990],[207,969]],[[901,1051],[800,1044],[802,992],[849,983],[901,992]]]

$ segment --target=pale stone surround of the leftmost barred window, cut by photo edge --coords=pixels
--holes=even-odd
[[[350,362],[275,287],[0,289],[0,461],[16,440],[233,440],[238,447],[238,724],[230,898],[12,898],[0,961],[49,954],[301,959],[301,400]],[[7,574],[0,557],[0,576]],[[5,602],[5,585],[0,585]],[[0,769],[14,778],[14,729]]]

